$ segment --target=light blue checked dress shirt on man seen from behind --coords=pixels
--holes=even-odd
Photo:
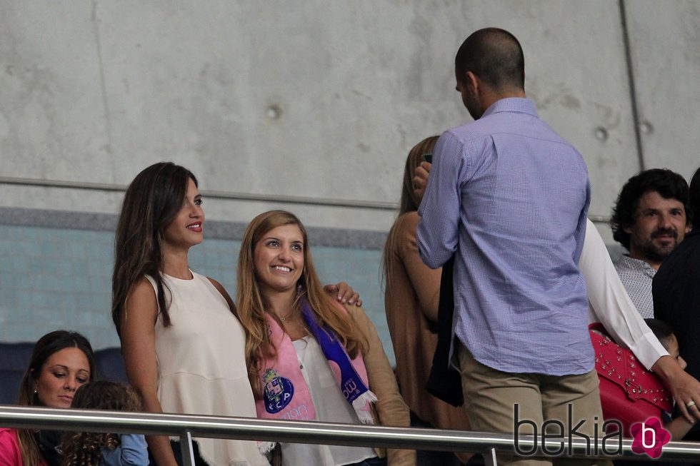
[[[419,208],[421,258],[456,253],[453,331],[508,373],[589,372],[588,300],[576,266],[590,203],[581,154],[527,98],[504,98],[440,136]]]

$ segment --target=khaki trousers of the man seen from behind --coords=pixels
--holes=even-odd
[[[559,420],[564,425],[564,437],[568,437],[569,425],[576,426],[580,420],[585,420],[581,427],[574,427],[576,432],[588,435],[592,440],[597,422],[599,438],[604,435],[598,375],[595,370],[582,375],[563,376],[504,373],[474,360],[464,345],[457,348],[457,357],[464,407],[472,430],[508,433],[517,428],[519,435],[534,435],[536,428],[538,445],[541,445],[541,427],[545,421]],[[516,409],[517,420],[520,422],[518,427]],[[521,422],[523,420],[534,422],[534,427],[530,422]],[[561,430],[560,427],[549,425],[547,433],[558,434]],[[521,450],[529,450],[529,447],[521,447]],[[608,460],[573,460],[566,454],[561,457],[537,458],[499,454],[497,460],[499,466],[611,465]]]

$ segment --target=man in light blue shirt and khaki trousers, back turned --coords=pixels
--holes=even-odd
[[[576,266],[586,164],[526,98],[512,34],[476,31],[455,71],[476,121],[436,145],[417,241],[431,268],[455,255],[453,351],[469,421],[474,430],[541,435],[556,420],[563,430],[552,432],[566,436],[584,420],[571,434],[592,438],[603,417]]]

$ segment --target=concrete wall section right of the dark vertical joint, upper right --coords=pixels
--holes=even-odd
[[[646,168],[700,166],[700,1],[627,1]]]

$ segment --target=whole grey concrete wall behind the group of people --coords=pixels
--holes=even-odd
[[[172,160],[223,193],[209,219],[283,207],[387,231],[384,204],[240,198],[395,203],[409,148],[471,120],[454,54],[484,26],[521,40],[526,91],[584,154],[606,218],[641,167],[699,164],[699,19],[697,0],[3,2],[0,225],[14,208],[114,215],[119,191],[28,184],[125,186]]]

